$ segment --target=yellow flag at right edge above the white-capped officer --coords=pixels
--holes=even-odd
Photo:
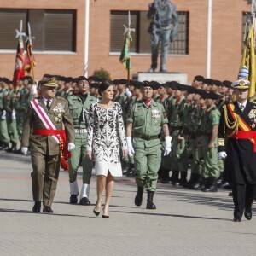
[[[254,24],[255,17],[252,15],[248,22],[249,28],[243,46],[241,65],[238,73],[238,79],[247,79],[250,81],[248,98],[255,94],[255,50],[254,50]]]

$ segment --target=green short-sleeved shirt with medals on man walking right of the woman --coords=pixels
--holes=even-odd
[[[127,122],[132,123],[133,146],[135,148],[150,148],[160,144],[160,139],[157,137],[160,136],[162,126],[168,123],[168,119],[162,104],[151,100],[148,108],[143,100],[140,100],[132,106]],[[156,138],[147,140],[143,137]]]

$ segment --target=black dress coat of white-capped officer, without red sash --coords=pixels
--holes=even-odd
[[[227,110],[227,119],[234,121],[234,113],[239,115],[247,126],[247,129],[256,131],[256,105],[252,102],[247,101],[246,108],[243,111],[239,108],[237,102],[233,104],[234,110],[230,112],[228,104],[224,106]],[[224,109],[222,111],[219,129],[218,129],[218,151],[226,151],[232,183],[256,183],[256,153],[253,152],[254,145],[250,139],[240,139],[228,137],[227,140],[224,138],[230,135],[234,130],[229,129],[225,121]],[[242,131],[239,125],[238,131]],[[236,132],[236,131],[235,131]]]

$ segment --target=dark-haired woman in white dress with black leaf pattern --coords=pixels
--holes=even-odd
[[[102,192],[106,189],[102,218],[109,218],[108,207],[113,192],[113,177],[122,176],[120,150],[127,155],[122,108],[113,102],[113,83],[103,81],[99,86],[102,100],[90,105],[87,157],[95,158],[97,201],[93,212],[98,216],[102,206]]]

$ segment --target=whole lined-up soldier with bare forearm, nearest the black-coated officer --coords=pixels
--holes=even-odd
[[[204,192],[217,192],[217,179],[219,177],[218,167],[218,124],[220,112],[215,106],[219,95],[207,94],[206,112],[201,120],[201,149],[204,160],[202,177],[205,178]]]

